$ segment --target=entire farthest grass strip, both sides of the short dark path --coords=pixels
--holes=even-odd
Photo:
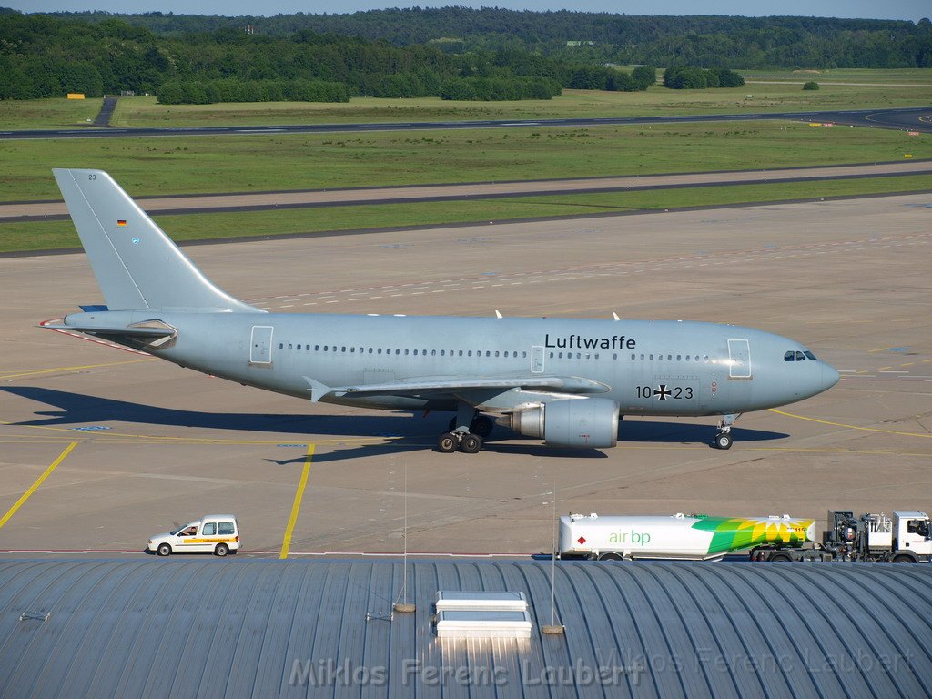
[[[554,100],[445,102],[437,98],[389,100],[353,98],[334,103],[158,104],[155,97],[121,98],[113,124],[120,127],[306,124],[351,121],[436,121],[559,117],[630,117],[659,114],[724,114],[816,109],[923,106],[932,103],[932,69],[844,69],[741,71],[752,80],[821,80],[849,83],[802,91],[797,85],[747,85],[735,89],[646,92],[564,90]],[[864,85],[864,84],[868,85]],[[908,87],[898,87],[898,86]],[[59,129],[86,125],[101,100],[0,101],[0,130]]]

